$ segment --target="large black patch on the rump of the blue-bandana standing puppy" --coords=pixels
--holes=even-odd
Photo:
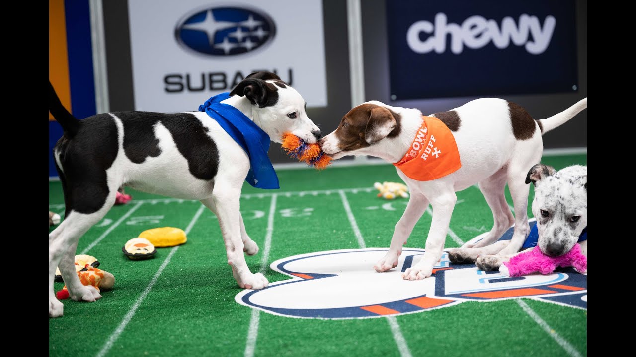
[[[62,167],[57,171],[64,190],[66,215],[97,212],[109,194],[106,170],[113,165],[119,149],[117,126],[109,114],[86,118],[77,134],[60,138],[53,152],[59,152]]]

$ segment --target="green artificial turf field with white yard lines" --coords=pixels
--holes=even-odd
[[[542,162],[558,170],[576,163],[586,165],[587,156],[546,157]],[[278,175],[280,190],[258,190],[245,184],[241,199],[247,232],[261,247],[257,255],[247,257],[251,271],[256,272],[261,269],[268,215],[272,196],[276,195],[272,245],[265,267],[270,282],[288,279],[269,268],[274,260],[300,253],[359,248],[338,189],[368,188],[376,181],[401,182],[392,165],[332,167],[322,172],[279,170]],[[103,292],[97,302],[63,301],[64,316],[49,320],[50,355],[97,355],[128,317],[123,331],[104,350],[107,356],[244,356],[252,309],[234,301],[242,289],[226,264],[225,247],[214,215],[203,210],[193,220],[202,207],[197,201],[162,201],[163,197],[153,194],[132,190],[127,193],[133,200],[107,213],[102,222],[79,240],[77,250],[79,254],[103,236],[87,253],[99,259],[100,269],[114,274],[115,288]],[[531,189],[530,201],[532,194]],[[406,200],[385,201],[377,198],[375,191],[349,190],[346,197],[366,246],[388,246]],[[512,203],[509,194],[507,197]],[[149,201],[155,198],[158,200]],[[469,187],[457,192],[457,198],[450,223],[457,236],[467,241],[490,229],[492,213],[478,189]],[[50,210],[63,212],[63,203],[60,183],[50,182]],[[383,209],[385,203],[391,203],[395,210]],[[179,248],[158,248],[153,259],[138,261],[121,253],[123,244],[141,231],[163,226],[186,229],[191,222],[188,242]],[[406,246],[424,248],[430,223],[430,215],[422,216]],[[453,239],[446,239],[446,248],[456,246]],[[174,255],[167,262],[171,253]],[[156,280],[148,288],[153,278]],[[63,283],[55,283],[55,290],[62,286]],[[141,296],[144,298],[140,299]],[[587,354],[586,311],[536,300],[523,299],[523,302],[567,341],[575,353]],[[139,305],[131,318],[127,314],[135,303]],[[309,320],[262,312],[258,316],[255,356],[401,354],[386,318]],[[413,356],[572,353],[560,346],[552,333],[545,332],[516,300],[464,302],[397,316],[396,321]]]

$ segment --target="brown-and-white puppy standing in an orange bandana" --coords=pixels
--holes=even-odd
[[[422,260],[407,269],[402,277],[420,280],[431,276],[432,267],[441,259],[457,196],[479,184],[492,215],[494,226],[479,243],[465,248],[487,246],[515,224],[511,243],[499,254],[516,253],[530,231],[527,220],[529,185],[525,183],[528,168],[539,162],[543,153],[541,135],[562,125],[587,107],[587,98],[550,118],[535,120],[520,105],[499,98],[480,98],[447,112],[431,114],[452,131],[461,167],[434,180],[419,181],[398,175],[408,185],[411,196],[406,210],[397,222],[391,246],[375,265],[377,271],[397,266],[402,246],[422,217],[429,203],[433,217]],[[418,109],[392,107],[372,100],[351,109],[338,128],[322,138],[322,149],[338,159],[347,155],[371,155],[389,163],[397,163],[411,149],[422,126]],[[504,196],[508,184],[515,203],[516,217],[510,212]]]

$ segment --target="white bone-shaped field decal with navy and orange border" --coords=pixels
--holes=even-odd
[[[587,309],[587,275],[572,268],[509,278],[474,264],[452,264],[444,253],[431,278],[408,281],[401,273],[417,264],[424,250],[404,249],[397,267],[377,273],[373,264],[385,252],[386,248],[331,250],[279,259],[270,267],[291,279],[263,290],[243,290],[235,300],[270,314],[330,320],[397,316],[465,301],[518,297]]]

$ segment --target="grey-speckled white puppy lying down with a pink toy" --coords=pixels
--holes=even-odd
[[[537,219],[539,238],[536,244],[541,252],[551,257],[569,252],[588,226],[588,166],[567,166],[557,172],[553,167],[539,163],[532,166],[525,182],[534,184],[532,214]],[[471,239],[479,240],[480,236]],[[497,241],[483,248],[452,249],[448,257],[453,263],[475,262],[482,270],[497,270],[516,255],[499,255],[509,243]],[[579,244],[581,252],[587,256],[587,239]],[[465,246],[468,245],[471,242]],[[528,248],[532,249],[534,247]]]

